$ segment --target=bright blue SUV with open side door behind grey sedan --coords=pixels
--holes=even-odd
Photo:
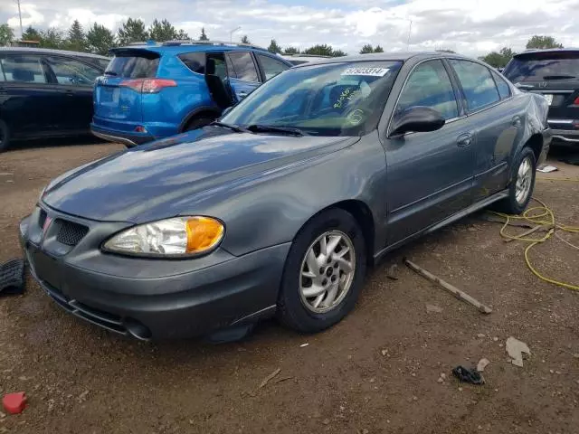
[[[243,43],[153,42],[111,52],[95,83],[90,130],[126,146],[203,127],[292,66]]]

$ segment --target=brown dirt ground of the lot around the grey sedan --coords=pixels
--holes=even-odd
[[[0,262],[21,255],[17,224],[44,184],[121,148],[59,142],[1,154]],[[539,177],[579,176],[554,163],[560,172]],[[579,225],[578,183],[539,180],[536,197]],[[579,293],[536,278],[525,244],[505,243],[499,229],[471,217],[395,252],[325,333],[271,321],[235,344],[119,338],[66,314],[28,278],[24,296],[0,297],[0,394],[29,397],[23,414],[0,414],[0,433],[577,433]],[[493,313],[432,286],[403,256]],[[562,241],[531,256],[548,276],[579,284],[579,253]],[[398,280],[387,278],[393,264]],[[522,368],[508,363],[509,336],[530,348]],[[452,377],[482,357],[485,385]]]

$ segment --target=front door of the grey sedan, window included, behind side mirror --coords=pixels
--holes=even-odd
[[[458,89],[441,60],[414,68],[394,109],[426,106],[446,124],[438,131],[390,137],[387,166],[388,244],[411,237],[470,205],[476,137],[462,116]]]

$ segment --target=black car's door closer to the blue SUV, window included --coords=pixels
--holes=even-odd
[[[102,70],[62,56],[46,56],[43,61],[61,96],[62,104],[56,113],[58,127],[63,130],[88,130],[92,119],[93,85]]]

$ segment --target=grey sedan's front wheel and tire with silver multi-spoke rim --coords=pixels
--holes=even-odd
[[[280,321],[302,333],[337,324],[356,305],[365,269],[365,240],[356,219],[341,209],[318,214],[289,249],[278,297]]]

